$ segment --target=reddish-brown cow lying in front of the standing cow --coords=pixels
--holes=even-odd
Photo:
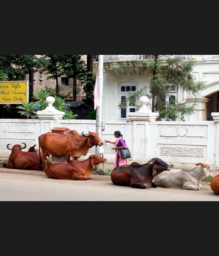
[[[64,180],[88,180],[92,171],[100,163],[105,163],[106,158],[98,155],[90,155],[83,161],[71,160],[69,163],[54,163],[45,169],[49,178]]]

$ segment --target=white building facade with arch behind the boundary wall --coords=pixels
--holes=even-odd
[[[163,59],[175,56],[163,56]],[[128,91],[139,90],[150,85],[150,77],[146,74],[142,76],[122,74],[116,76],[109,70],[110,66],[117,65],[118,61],[141,61],[150,59],[150,57],[151,55],[104,55],[103,119],[129,120],[128,114],[129,112],[135,112],[135,107],[127,104],[127,109],[124,110],[120,109],[118,105],[124,100]],[[194,114],[185,116],[185,121],[213,121],[211,113],[219,111],[219,55],[180,55],[180,57],[185,60],[195,59],[196,65],[193,68],[193,76],[197,80],[204,81],[207,86],[195,95],[177,91],[173,87],[171,96],[181,104],[195,105]],[[97,65],[94,65],[94,67],[97,67]]]

